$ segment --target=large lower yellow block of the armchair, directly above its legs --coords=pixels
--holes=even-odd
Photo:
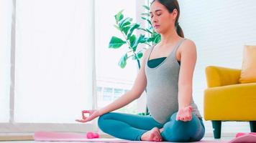
[[[256,83],[211,87],[204,91],[204,119],[256,121]]]

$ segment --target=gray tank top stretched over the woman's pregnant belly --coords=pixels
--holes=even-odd
[[[178,112],[178,75],[180,64],[178,64],[175,55],[178,47],[184,40],[178,41],[173,51],[155,68],[150,68],[146,62],[147,107],[151,116],[161,124],[168,122],[171,115]],[[150,54],[154,46],[150,47]],[[150,58],[150,54],[147,56],[147,61]],[[201,117],[198,107],[193,102],[193,98],[191,99],[191,106],[193,107],[192,113],[196,114],[197,117]]]

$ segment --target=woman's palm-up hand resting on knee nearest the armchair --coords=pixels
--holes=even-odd
[[[180,120],[183,122],[191,121],[192,119],[192,107],[183,107],[182,109],[178,110],[176,120]]]

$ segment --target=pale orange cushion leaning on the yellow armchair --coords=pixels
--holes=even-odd
[[[239,82],[256,82],[256,46],[244,46],[244,57],[242,61],[242,72]]]

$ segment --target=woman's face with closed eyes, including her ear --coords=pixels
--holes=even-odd
[[[150,17],[155,31],[159,34],[168,31],[171,26],[174,26],[177,13],[176,9],[169,13],[163,4],[154,1],[150,6]]]

